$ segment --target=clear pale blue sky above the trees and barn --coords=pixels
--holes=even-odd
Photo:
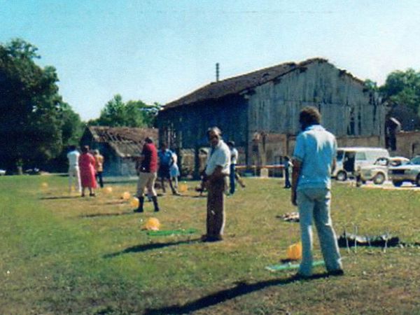
[[[358,78],[420,70],[420,1],[0,0],[0,42],[52,65],[83,120],[114,94],[165,104],[215,80],[325,57]]]

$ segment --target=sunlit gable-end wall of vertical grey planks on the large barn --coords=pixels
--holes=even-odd
[[[386,109],[378,97],[326,62],[314,62],[255,87],[247,97],[250,134],[297,134],[300,110],[315,106],[321,111],[323,125],[337,137],[383,138]]]

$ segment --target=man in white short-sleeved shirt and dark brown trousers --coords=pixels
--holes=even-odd
[[[230,150],[223,142],[221,130],[211,127],[207,130],[207,137],[211,150],[207,157],[205,169],[207,186],[207,234],[203,241],[221,241],[225,227],[225,188],[230,173]]]

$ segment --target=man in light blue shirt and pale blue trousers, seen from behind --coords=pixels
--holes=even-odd
[[[331,173],[335,168],[337,141],[321,125],[314,107],[300,112],[302,132],[293,153],[291,202],[299,207],[302,262],[297,276],[312,274],[312,220],[315,221],[325,267],[330,275],[343,275],[337,237],[330,216]]]

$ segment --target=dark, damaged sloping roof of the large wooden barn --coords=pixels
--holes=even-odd
[[[165,109],[172,109],[177,106],[193,104],[208,99],[219,99],[230,94],[245,92],[248,89],[284,76],[286,73],[290,73],[291,71],[295,71],[297,69],[303,70],[305,66],[314,62],[323,63],[328,62],[328,60],[323,58],[312,58],[299,63],[286,62],[284,64],[278,64],[269,68],[246,73],[241,76],[235,76],[233,78],[213,82],[209,85],[205,85],[204,87],[200,87],[198,90],[195,90],[194,92],[187,94],[186,96],[181,97],[174,102],[166,104],[163,111],[165,111]],[[358,80],[360,83],[363,83],[362,80],[352,76],[350,73],[347,73],[344,70],[340,70],[340,72],[345,73],[347,76],[350,76],[354,80]]]

